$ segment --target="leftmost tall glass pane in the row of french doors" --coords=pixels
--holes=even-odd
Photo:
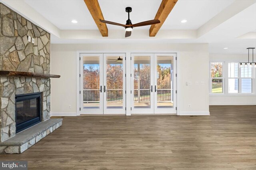
[[[83,57],[84,108],[100,108],[100,57]]]

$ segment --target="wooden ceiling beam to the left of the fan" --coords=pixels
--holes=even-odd
[[[104,17],[101,12],[98,0],[84,0],[84,2],[92,15],[94,22],[96,23],[98,29],[100,30],[102,37],[107,37],[108,36],[107,25],[103,22],[100,22],[100,20],[104,20]]]

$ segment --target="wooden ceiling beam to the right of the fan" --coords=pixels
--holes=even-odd
[[[175,6],[177,1],[178,0],[162,0],[155,16],[155,20],[160,20],[160,23],[151,25],[149,29],[150,37],[156,36],[157,32],[160,30],[161,26],[164,24],[164,21],[172,11],[172,8]]]

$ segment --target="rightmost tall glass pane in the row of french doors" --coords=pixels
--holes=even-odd
[[[173,56],[157,56],[157,108],[173,108]]]

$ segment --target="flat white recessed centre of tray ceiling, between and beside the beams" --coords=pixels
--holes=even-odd
[[[84,0],[25,0],[32,8],[57,26],[60,30],[96,30],[98,29]],[[130,19],[133,24],[153,20],[161,0],[98,0],[105,20],[125,24],[127,6],[132,7]],[[234,0],[178,0],[172,12],[162,25],[162,30],[198,29]],[[212,10],[214,9],[214,10]],[[71,20],[77,20],[72,24]],[[181,20],[187,20],[182,24]],[[150,26],[136,29],[148,30]],[[123,29],[108,25],[109,30]]]

